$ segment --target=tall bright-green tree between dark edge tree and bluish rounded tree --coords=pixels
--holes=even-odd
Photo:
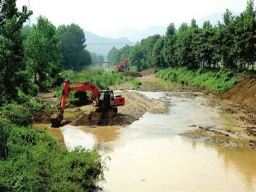
[[[32,27],[25,43],[25,56],[27,71],[41,89],[51,76],[61,71],[60,40],[56,27],[46,18],[40,16]]]

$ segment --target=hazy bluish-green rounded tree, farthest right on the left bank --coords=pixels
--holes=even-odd
[[[85,51],[86,38],[81,27],[74,23],[67,26],[61,25],[57,29],[57,34],[61,40],[64,69],[79,71],[91,64],[91,55]]]

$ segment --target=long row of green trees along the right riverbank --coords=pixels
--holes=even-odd
[[[171,23],[164,36],[149,36],[134,46],[126,45],[121,49],[113,47],[107,59],[117,64],[129,58],[138,71],[178,66],[253,70],[256,59],[255,16],[254,0],[248,0],[240,15],[235,16],[226,9],[223,21],[215,26],[205,21],[199,27],[193,19],[190,25],[183,23],[177,30]]]

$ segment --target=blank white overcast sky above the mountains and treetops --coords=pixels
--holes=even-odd
[[[226,8],[241,12],[247,0],[30,0],[33,17],[45,16],[56,27],[76,23],[104,36],[120,28],[144,29],[151,25],[190,23]],[[17,0],[17,6],[28,0]]]

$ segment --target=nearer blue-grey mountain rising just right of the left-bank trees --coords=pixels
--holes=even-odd
[[[107,56],[108,52],[115,46],[117,49],[127,45],[134,45],[129,39],[121,37],[119,39],[107,38],[95,35],[89,31],[85,31],[85,38],[87,49],[90,52],[101,54],[104,57]]]

